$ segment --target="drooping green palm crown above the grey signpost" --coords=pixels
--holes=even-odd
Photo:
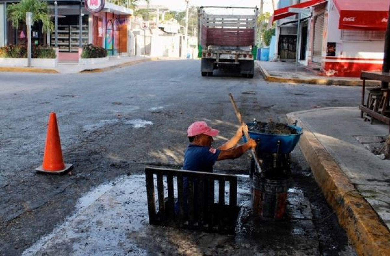
[[[54,25],[50,20],[48,5],[42,0],[21,0],[18,4],[7,6],[8,17],[16,29],[19,28],[20,21],[26,21],[26,12],[32,12],[32,20],[42,21],[42,32],[50,33]]]

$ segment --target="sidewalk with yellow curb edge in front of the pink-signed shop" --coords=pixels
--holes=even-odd
[[[42,67],[1,67],[0,72],[35,72],[35,73],[62,73],[75,74],[85,72],[104,72],[119,67],[138,64],[141,62],[158,60],[160,58],[143,56],[111,56],[109,60],[97,64],[83,65],[78,63],[58,63],[55,68]]]

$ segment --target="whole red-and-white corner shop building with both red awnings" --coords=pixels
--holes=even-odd
[[[382,69],[389,5],[390,0],[309,0],[275,10],[272,21],[296,16],[291,7],[310,10],[301,19],[301,24],[308,19],[307,28],[297,33],[298,56],[305,56],[300,62],[324,76],[359,77],[361,71]]]

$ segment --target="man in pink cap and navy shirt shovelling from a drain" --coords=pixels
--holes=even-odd
[[[213,172],[213,166],[216,161],[226,159],[236,159],[243,155],[246,151],[256,148],[254,139],[249,139],[243,145],[237,146],[238,141],[242,138],[243,132],[248,131],[245,124],[238,127],[236,134],[226,143],[218,148],[213,148],[213,136],[217,136],[219,131],[211,128],[204,121],[197,121],[191,124],[187,129],[188,145],[184,153],[183,169],[188,171]],[[187,198],[188,198],[188,182],[187,178],[183,179],[184,185],[184,213],[187,214]],[[205,184],[207,185],[207,184]],[[197,186],[195,186],[196,189]],[[206,190],[207,191],[207,190]],[[197,191],[195,196],[197,195]],[[196,200],[195,200],[196,201]],[[207,203],[205,202],[207,205]],[[175,213],[179,212],[179,205],[175,203]]]

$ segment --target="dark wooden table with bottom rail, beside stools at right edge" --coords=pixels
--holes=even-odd
[[[369,109],[364,104],[364,94],[365,94],[365,81],[366,80],[378,80],[382,82],[390,83],[390,72],[366,72],[362,71],[360,74],[360,79],[363,80],[363,86],[362,86],[362,104],[359,105],[359,109],[361,111],[361,117],[363,113],[367,113],[367,115],[371,116],[372,118],[375,118],[385,124],[390,125],[390,118],[386,117],[385,115],[382,115],[382,113],[378,113],[372,109]],[[382,88],[385,89],[385,88]],[[388,108],[388,102],[385,102],[385,107]],[[390,126],[389,126],[389,132],[390,132]]]

